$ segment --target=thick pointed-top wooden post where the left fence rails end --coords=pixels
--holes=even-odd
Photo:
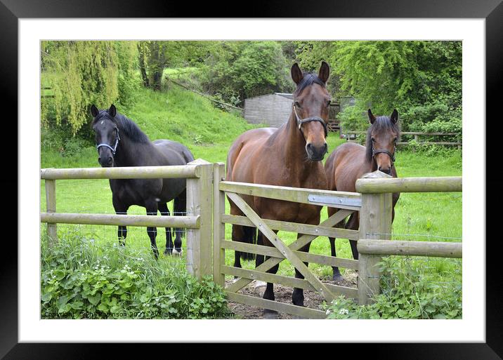
[[[200,228],[187,229],[187,269],[198,280],[211,275],[211,200],[213,164],[202,159],[188,163],[197,165],[198,178],[187,179],[187,213],[200,215]]]

